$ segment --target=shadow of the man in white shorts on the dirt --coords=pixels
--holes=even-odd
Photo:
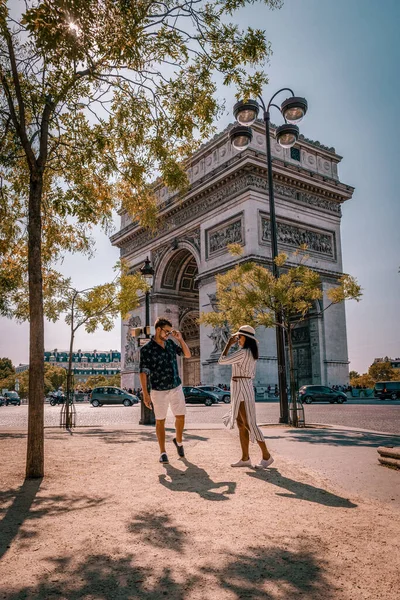
[[[165,465],[166,474],[159,475],[161,485],[173,492],[199,494],[204,500],[229,500],[228,496],[235,493],[236,482],[213,481],[205,469],[189,462],[186,458],[182,459],[182,463],[186,466],[185,471],[172,465]],[[219,488],[227,489],[221,492],[212,491]]]

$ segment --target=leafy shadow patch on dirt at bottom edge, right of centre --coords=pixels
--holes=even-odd
[[[221,589],[229,590],[233,598],[273,600],[301,596],[307,600],[329,600],[335,590],[324,577],[320,563],[321,558],[309,550],[257,546],[230,554],[223,569],[206,567],[202,571],[212,574]]]

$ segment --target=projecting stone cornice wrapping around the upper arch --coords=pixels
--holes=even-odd
[[[318,181],[317,177],[313,177],[313,181],[307,181],[306,177],[299,177],[298,172],[288,172],[287,167],[279,162],[277,159],[274,161],[273,173],[277,203],[280,199],[290,200],[340,216],[340,204],[351,197],[353,188],[340,182],[328,186],[322,177],[321,181]],[[278,186],[281,186],[281,190],[282,186],[287,186],[288,193],[285,193],[285,190],[280,193]],[[157,239],[162,238],[164,234],[169,235],[171,231],[179,230],[181,226],[208,213],[215,206],[229,202],[250,190],[262,193],[268,190],[266,166],[260,161],[260,153],[254,150],[246,150],[239,157],[230,159],[223,166],[196,181],[183,199],[179,199],[177,194],[164,206],[161,205],[155,235]],[[194,209],[195,206],[197,210]],[[126,250],[124,253],[124,248],[132,245],[135,239],[138,243],[134,251],[153,241],[155,235],[137,223],[130,223],[111,237],[111,243],[122,248],[122,254],[126,255],[130,251]]]

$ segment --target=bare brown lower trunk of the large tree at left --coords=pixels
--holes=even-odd
[[[44,475],[44,322],[42,281],[42,174],[31,174],[28,217],[29,408],[26,477]]]

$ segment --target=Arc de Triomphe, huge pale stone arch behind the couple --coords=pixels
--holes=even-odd
[[[132,271],[148,256],[155,269],[151,322],[161,315],[179,327],[192,349],[183,362],[187,385],[227,383],[229,367],[218,365],[228,338],[224,329],[197,324],[200,311],[215,310],[215,275],[237,260],[271,265],[268,182],[263,123],[253,125],[251,146],[237,154],[229,141],[230,126],[192,156],[190,188],[184,197],[161,185],[156,188],[160,215],[157,234],[122,215],[121,229],[112,236]],[[341,204],[354,188],[341,183],[333,148],[300,137],[294,148],[283,149],[271,135],[273,178],[279,250],[289,255],[307,244],[309,266],[321,276],[324,292],[342,274]],[[243,246],[238,259],[229,243]],[[294,258],[292,260],[295,260]],[[296,331],[295,360],[299,385],[348,381],[344,305],[322,306]],[[137,340],[130,327],[144,324],[144,302],[122,323],[122,385],[138,387]],[[259,328],[260,360],[255,384],[278,382],[275,332]]]

